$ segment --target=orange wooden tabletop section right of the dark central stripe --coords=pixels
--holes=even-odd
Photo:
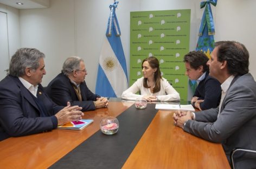
[[[221,144],[174,126],[175,111],[158,111],[123,168],[230,168]]]

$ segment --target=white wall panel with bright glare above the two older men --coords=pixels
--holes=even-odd
[[[46,55],[47,86],[60,73],[62,63],[75,55],[74,2],[54,0],[47,9],[20,11],[21,47],[37,48]]]

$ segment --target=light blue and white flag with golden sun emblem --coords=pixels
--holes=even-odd
[[[120,98],[128,88],[126,60],[116,16],[118,1],[110,5],[106,36],[100,53],[95,93],[104,97]]]

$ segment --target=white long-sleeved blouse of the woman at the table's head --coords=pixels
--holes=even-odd
[[[122,94],[122,99],[126,100],[136,100],[137,98],[142,98],[143,96],[157,96],[160,101],[178,101],[180,100],[180,94],[170,85],[170,83],[162,77],[161,89],[157,93],[151,93],[150,88],[145,88],[143,86],[144,77],[139,78],[133,85],[125,90]],[[135,94],[140,91],[139,94]]]

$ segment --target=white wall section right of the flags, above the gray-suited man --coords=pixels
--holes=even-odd
[[[256,80],[256,1],[218,1],[215,17],[215,41],[235,40],[249,51],[249,72]]]

